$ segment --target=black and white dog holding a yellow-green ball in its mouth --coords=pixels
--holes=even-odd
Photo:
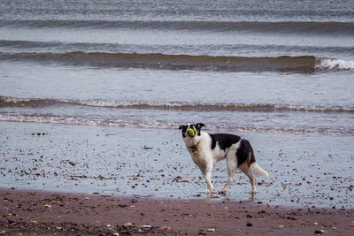
[[[219,193],[225,193],[234,180],[234,174],[239,168],[250,179],[250,193],[256,193],[254,175],[267,176],[268,173],[256,164],[256,159],[250,142],[240,136],[227,133],[210,134],[201,131],[203,123],[181,125],[183,140],[194,163],[204,175],[208,189],[207,194],[214,191],[212,186],[212,167],[220,160],[227,159],[227,184]]]

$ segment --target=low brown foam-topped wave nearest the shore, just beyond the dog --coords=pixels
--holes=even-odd
[[[272,104],[272,103],[183,103],[183,102],[122,102],[92,100],[68,100],[45,98],[19,98],[0,96],[1,107],[45,107],[55,105],[79,105],[89,107],[102,107],[114,109],[155,109],[155,110],[196,110],[196,111],[299,111],[299,112],[345,112],[354,113],[354,107],[342,106],[306,106],[296,104]]]

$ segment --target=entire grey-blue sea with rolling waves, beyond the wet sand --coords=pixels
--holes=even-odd
[[[0,120],[354,135],[354,1],[0,1]]]

